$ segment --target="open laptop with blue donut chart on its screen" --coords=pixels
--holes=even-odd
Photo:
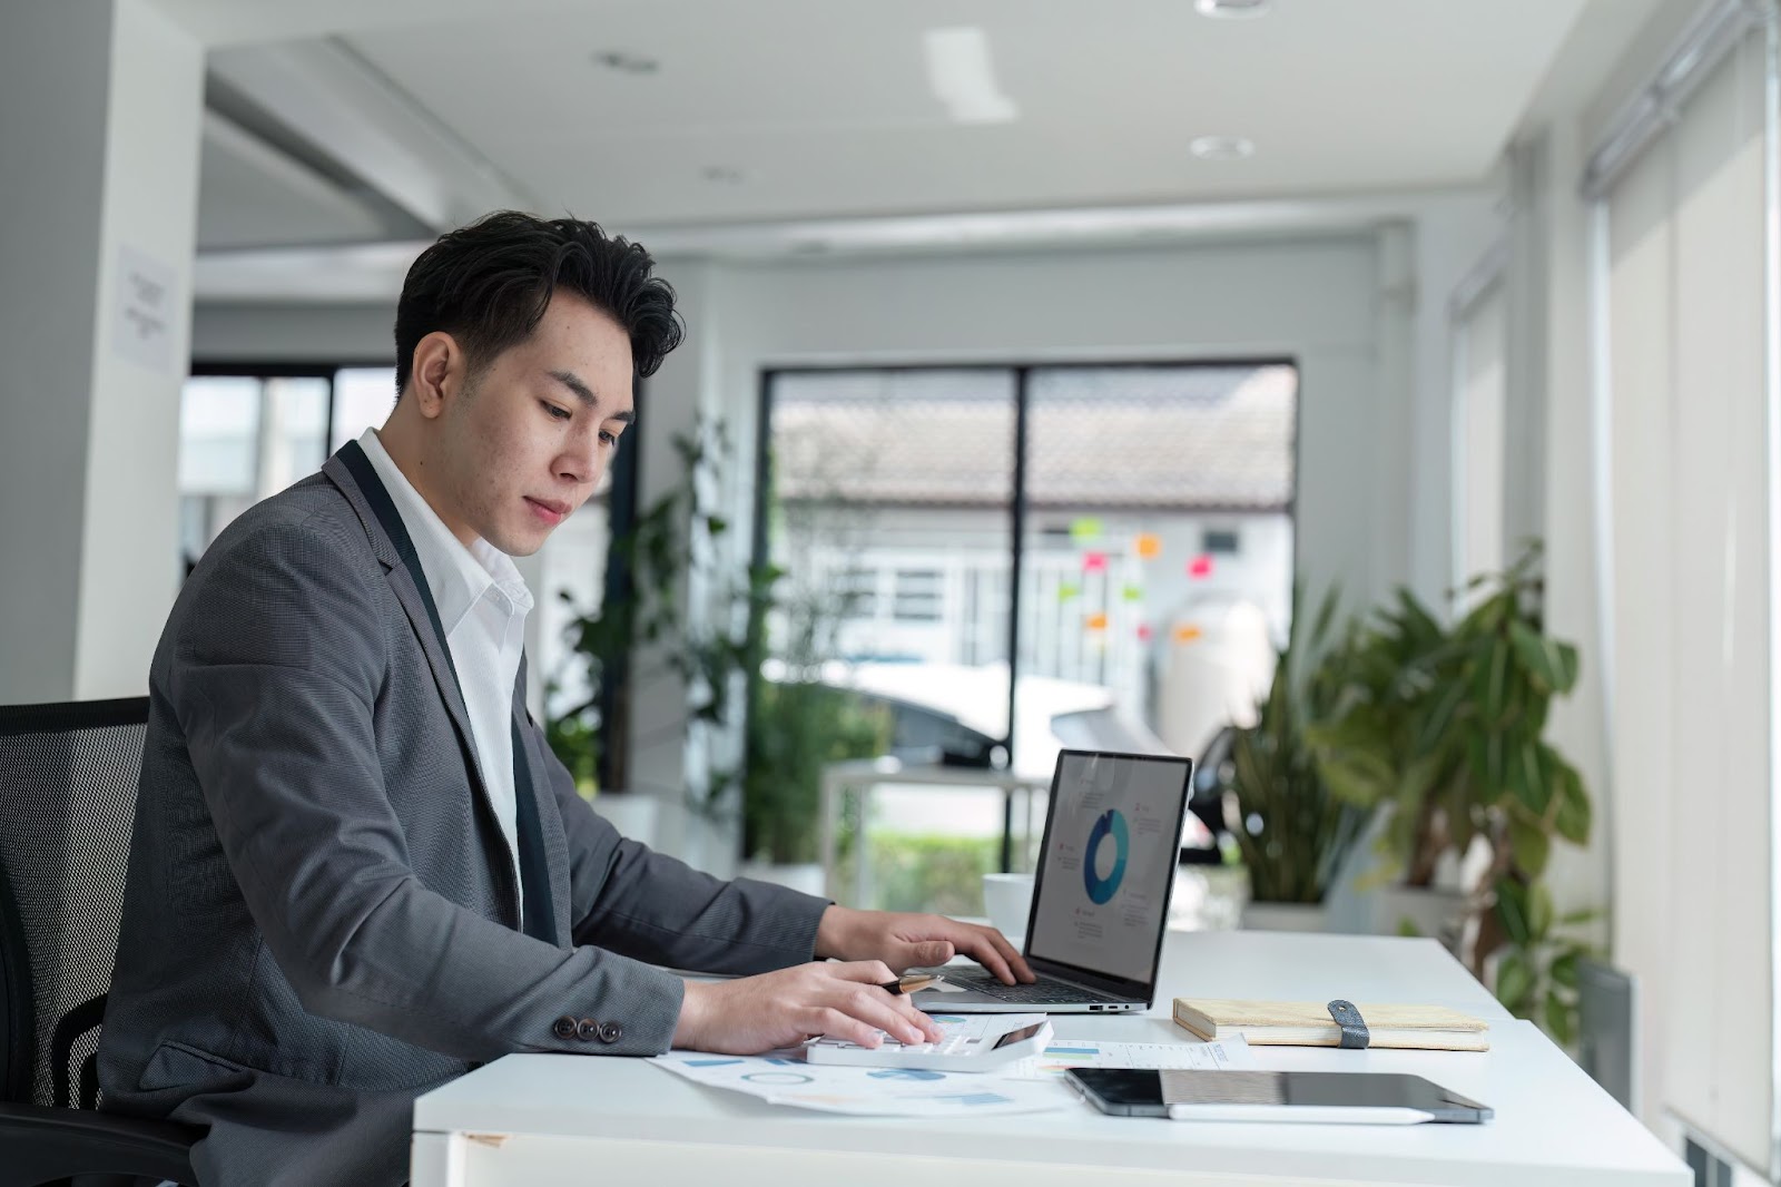
[[[1063,750],[1026,921],[1038,980],[1004,986],[976,964],[912,1002],[930,1014],[1120,1014],[1151,1009],[1175,889],[1193,763],[1158,754]]]

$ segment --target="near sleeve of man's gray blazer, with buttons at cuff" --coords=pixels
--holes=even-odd
[[[392,595],[376,588],[383,572],[363,536],[276,522],[205,569],[164,692],[223,855],[303,1009],[467,1060],[666,1050],[680,978],[533,939],[410,868],[372,715],[379,697],[404,695],[385,688]],[[565,1016],[616,1021],[622,1037],[559,1037]]]

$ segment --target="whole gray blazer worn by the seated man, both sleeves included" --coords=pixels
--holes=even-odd
[[[823,900],[620,838],[524,683],[563,946],[520,930],[447,654],[342,460],[217,538],[150,672],[107,1110],[208,1125],[205,1187],[401,1183],[417,1094],[509,1052],[666,1050],[655,966],[812,959]]]

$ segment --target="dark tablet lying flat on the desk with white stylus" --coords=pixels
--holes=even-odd
[[[1366,1071],[1070,1068],[1101,1112],[1174,1121],[1480,1123],[1491,1110],[1421,1076]]]

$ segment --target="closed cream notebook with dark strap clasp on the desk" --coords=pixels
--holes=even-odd
[[[1366,1021],[1370,1046],[1425,1052],[1487,1052],[1491,1025],[1444,1005],[1368,1005],[1355,1009]],[[1339,1046],[1341,1027],[1323,1002],[1234,1002],[1231,998],[1175,998],[1175,1023],[1202,1039],[1243,1036],[1254,1046]]]

